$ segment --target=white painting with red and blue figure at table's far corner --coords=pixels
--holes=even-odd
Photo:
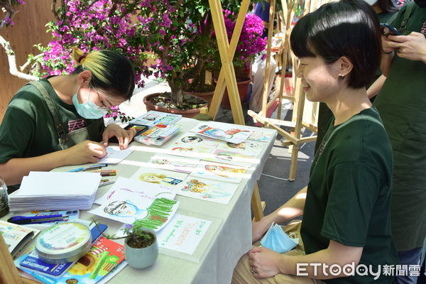
[[[195,129],[192,129],[195,133],[224,140],[231,143],[241,143],[246,141],[251,135],[249,129],[238,127],[234,124],[219,124],[210,122],[208,124],[199,124]]]

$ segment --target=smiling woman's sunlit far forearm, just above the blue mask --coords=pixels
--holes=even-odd
[[[281,224],[302,215],[305,207],[306,190],[307,187],[303,187],[288,202],[285,202],[280,208],[263,218],[268,220],[270,224],[272,222]]]

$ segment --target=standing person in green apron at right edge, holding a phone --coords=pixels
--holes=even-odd
[[[382,35],[386,81],[374,101],[393,149],[392,235],[401,264],[420,271],[426,237],[426,0],[410,1]],[[416,283],[413,273],[398,283]]]

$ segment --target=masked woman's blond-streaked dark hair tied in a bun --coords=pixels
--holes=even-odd
[[[94,89],[102,89],[126,99],[130,99],[135,89],[135,71],[131,62],[113,50],[97,50],[83,53],[73,48],[72,58],[77,67],[72,74],[80,74],[84,70],[92,72],[90,85]]]

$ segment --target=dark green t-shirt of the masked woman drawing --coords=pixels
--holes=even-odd
[[[62,102],[48,80],[39,82],[53,99],[67,133],[97,121],[82,118],[77,114],[74,105]],[[99,135],[92,137],[92,140],[101,141],[102,131],[103,127],[99,129]],[[31,158],[59,151],[61,148],[58,138],[45,99],[37,88],[26,84],[11,99],[0,125],[0,163],[6,163],[11,158]]]

